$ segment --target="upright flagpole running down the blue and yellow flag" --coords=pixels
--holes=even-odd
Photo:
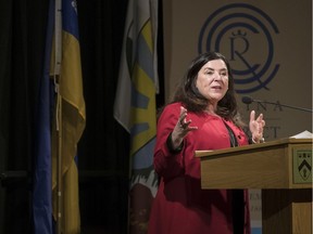
[[[62,98],[60,94],[60,78],[62,63],[62,0],[55,0],[55,24],[54,24],[54,82],[57,90],[57,134],[58,134],[58,151],[57,151],[57,234],[62,233],[62,216],[63,216],[63,183],[62,183]]]

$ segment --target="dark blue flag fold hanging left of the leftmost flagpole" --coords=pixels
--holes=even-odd
[[[52,168],[51,168],[51,84],[49,78],[53,35],[54,5],[50,1],[47,25],[43,74],[39,80],[38,104],[35,114],[33,225],[35,234],[52,234]]]

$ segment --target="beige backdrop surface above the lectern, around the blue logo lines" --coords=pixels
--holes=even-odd
[[[173,93],[174,87],[179,80],[189,62],[199,53],[198,40],[202,26],[213,12],[222,6],[229,5],[237,1],[213,1],[213,0],[164,0],[164,66],[165,66],[165,95],[166,99]],[[216,14],[210,21],[205,28],[205,37],[214,23],[233,13],[245,13],[261,22],[265,29],[262,29],[255,20],[249,20],[246,16],[231,17],[217,24],[212,42],[220,42],[220,52],[230,58],[231,32],[237,32],[239,26],[225,30],[226,32],[217,41],[217,35],[233,23],[246,23],[248,27],[255,28],[259,34],[251,31],[247,27],[241,27],[246,31],[246,41],[236,39],[235,49],[242,52],[249,43],[246,53],[242,53],[249,65],[259,64],[255,69],[259,76],[262,67],[265,67],[265,61],[268,57],[268,42],[265,31],[268,31],[273,40],[273,61],[264,69],[264,74],[259,77],[259,81],[264,83],[271,77],[271,73],[276,65],[279,66],[272,80],[263,88],[249,93],[238,93],[238,103],[240,104],[245,119],[248,119],[251,109],[258,113],[262,112],[266,120],[265,138],[267,141],[273,139],[287,138],[301,131],[312,131],[312,114],[296,109],[288,109],[283,106],[267,104],[264,108],[253,103],[247,106],[241,103],[241,98],[250,95],[258,100],[268,102],[278,102],[285,105],[293,105],[305,108],[312,108],[312,2],[311,0],[263,0],[263,1],[240,1],[248,3],[252,8],[263,11],[277,26],[278,32],[275,32],[268,20],[262,16],[259,11],[251,8],[229,8]],[[203,40],[201,40],[203,41]],[[201,43],[203,46],[203,43]],[[213,43],[212,43],[213,44]],[[204,51],[205,48],[202,50]],[[230,61],[233,68],[237,70],[246,69],[246,65],[238,56]],[[246,76],[235,76],[237,80],[247,80],[251,74]],[[253,76],[252,76],[253,77]],[[252,89],[258,86],[258,79],[246,84],[236,84],[240,90]]]

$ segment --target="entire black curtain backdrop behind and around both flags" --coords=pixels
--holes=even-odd
[[[32,141],[49,0],[0,1],[0,233],[33,233]],[[87,122],[82,233],[127,233],[129,139],[113,118],[127,0],[77,0]],[[162,30],[162,22],[160,22]],[[162,48],[162,37],[160,38]],[[163,70],[162,54],[159,56]],[[163,81],[158,103],[163,103]]]

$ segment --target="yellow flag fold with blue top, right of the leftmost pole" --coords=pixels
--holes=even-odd
[[[57,0],[58,2],[58,0]],[[58,50],[61,54],[60,74],[57,82],[58,102],[55,107],[57,122],[52,129],[52,200],[53,214],[61,223],[62,233],[80,232],[80,213],[78,197],[77,144],[86,125],[85,100],[80,67],[80,48],[78,37],[77,4],[75,0],[62,0],[62,44],[55,38],[55,60],[52,67],[54,78],[58,77]],[[58,21],[55,21],[58,23]],[[57,24],[58,25],[58,24]],[[61,196],[58,183],[58,157],[61,159]],[[59,174],[60,174],[59,173]],[[58,198],[59,196],[59,198]],[[58,211],[58,199],[61,210]],[[58,213],[57,213],[58,212]],[[60,217],[61,212],[61,217]],[[58,224],[58,223],[57,223]]]

